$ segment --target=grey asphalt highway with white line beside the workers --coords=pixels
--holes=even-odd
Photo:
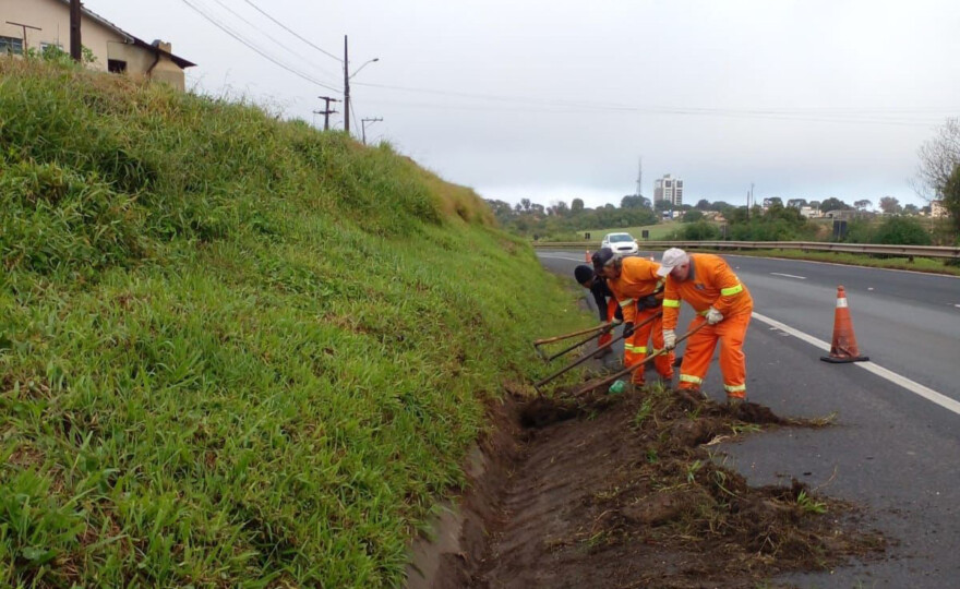
[[[538,256],[571,279],[584,263],[583,251]],[[723,257],[754,298],[745,344],[749,399],[781,416],[837,414],[824,430],[782,429],[720,445],[728,465],[752,484],[796,478],[852,501],[864,508],[863,525],[891,541],[883,560],[777,580],[960,587],[960,278]],[[829,349],[840,285],[869,362],[819,360]],[[684,305],[677,334],[692,316]],[[705,389],[723,398],[716,358]]]

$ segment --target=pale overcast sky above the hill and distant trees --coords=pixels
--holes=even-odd
[[[960,116],[956,0],[84,4],[172,43],[199,64],[196,92],[317,125],[316,96],[343,88],[341,61],[317,48],[343,58],[349,35],[351,72],[380,58],[352,77],[352,131],[382,117],[368,140],[512,203],[619,204],[643,156],[648,197],[672,173],[688,204],[745,204],[752,182],[757,199],[923,204],[916,149]]]

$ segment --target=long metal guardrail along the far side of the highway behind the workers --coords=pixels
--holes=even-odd
[[[897,255],[903,257],[952,257],[960,259],[960,248],[937,245],[879,245],[874,243],[831,243],[825,241],[639,241],[641,249],[683,248],[696,250],[801,250],[804,252],[844,252]],[[600,248],[599,241],[537,241],[535,248],[542,249],[589,249]]]

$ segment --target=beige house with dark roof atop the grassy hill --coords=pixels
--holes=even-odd
[[[146,43],[85,8],[80,29],[95,70],[165,82],[182,91],[183,71],[195,65],[175,56],[169,43]],[[0,53],[48,47],[70,51],[70,0],[0,0]]]

